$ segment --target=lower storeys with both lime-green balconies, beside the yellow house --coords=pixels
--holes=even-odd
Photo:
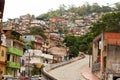
[[[23,51],[14,47],[8,47],[7,49],[7,75],[18,76],[20,69],[20,57],[23,55]]]

